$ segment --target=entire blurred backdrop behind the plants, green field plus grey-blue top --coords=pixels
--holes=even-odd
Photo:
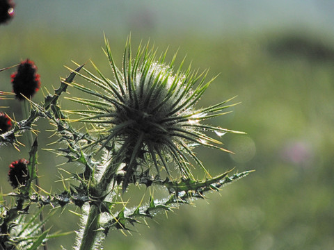
[[[218,174],[235,167],[255,169],[206,201],[159,215],[132,235],[111,231],[105,249],[334,249],[334,9],[333,1],[33,1],[17,0],[15,18],[0,26],[0,68],[30,58],[51,91],[68,74],[71,60],[94,63],[111,77],[102,53],[103,33],[121,63],[125,40],[150,41],[179,62],[209,68],[218,78],[198,103],[206,106],[237,95],[234,111],[211,124],[246,131],[224,135],[236,154],[198,150]],[[332,10],[332,11],[331,11]],[[135,47],[134,46],[134,47]],[[11,91],[10,74],[0,73],[0,90]],[[109,72],[109,73],[108,73]],[[42,100],[42,91],[34,101]],[[71,91],[70,91],[71,92]],[[65,101],[63,106],[69,108]],[[19,120],[17,101],[0,106]],[[2,109],[3,110],[3,109]],[[54,138],[40,124],[40,147]],[[8,165],[28,157],[1,147],[0,180],[10,192]],[[39,152],[40,182],[54,183],[64,160]],[[74,166],[75,167],[75,166]],[[70,167],[67,167],[70,169]],[[74,207],[70,209],[75,210]],[[70,231],[78,219],[61,210],[52,229]],[[74,235],[49,242],[70,249]]]

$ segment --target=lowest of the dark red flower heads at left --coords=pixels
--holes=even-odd
[[[8,177],[10,185],[17,188],[19,185],[25,185],[29,178],[28,165],[29,161],[26,159],[19,159],[9,165]]]

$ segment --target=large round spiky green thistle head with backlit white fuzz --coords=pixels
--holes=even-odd
[[[93,144],[100,149],[117,148],[114,155],[122,159],[123,190],[147,170],[143,166],[150,171],[155,169],[157,176],[161,169],[165,169],[170,176],[173,165],[180,170],[182,177],[193,178],[189,166],[195,162],[209,176],[193,147],[204,145],[228,151],[205,131],[216,132],[217,135],[237,132],[201,123],[223,115],[223,110],[230,107],[224,106],[226,101],[207,108],[195,107],[213,79],[205,82],[206,72],[192,72],[190,66],[182,72],[183,62],[174,72],[175,56],[166,65],[166,53],[157,59],[156,52],[148,49],[148,45],[143,49],[139,46],[132,58],[128,42],[122,70],[116,67],[108,41],[105,53],[113,69],[114,81],[106,78],[95,65],[99,76],[87,69],[84,70],[88,76],[77,73],[100,89],[92,90],[73,83],[75,88],[95,99],[70,98],[88,107],[87,110],[71,110],[70,113],[81,116],[77,121],[95,124],[92,133],[97,135],[97,140]],[[119,180],[120,176],[117,177]]]

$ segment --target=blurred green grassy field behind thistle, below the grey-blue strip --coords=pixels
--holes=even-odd
[[[71,60],[85,63],[92,59],[111,76],[100,49],[102,35],[42,31],[31,34],[19,31],[1,36],[0,47],[6,49],[1,50],[0,68],[31,58],[38,66],[42,85],[49,91],[58,86],[60,76],[67,76],[62,65],[72,66]],[[106,35],[120,65],[126,38]],[[161,52],[170,45],[170,57],[180,47],[179,62],[187,55],[186,62],[192,60],[193,68],[209,67],[209,77],[220,74],[199,106],[235,95],[234,101],[242,102],[232,108],[232,114],[209,121],[246,131],[247,135],[227,134],[222,138],[228,149],[236,149],[236,156],[200,149],[198,154],[205,165],[213,174],[233,167],[240,172],[256,172],[219,194],[209,194],[208,201],[196,201],[196,208],[182,206],[169,213],[168,219],[159,215],[157,223],[148,221],[150,228],[139,225],[127,237],[120,231],[111,231],[105,249],[334,249],[334,60],[309,56],[310,51],[316,50],[312,43],[307,53],[284,53],[284,41],[291,35],[151,37]],[[302,36],[301,41],[308,42],[308,35]],[[133,44],[141,39],[133,35]],[[316,40],[316,44],[333,51],[332,41],[324,41]],[[1,72],[1,90],[11,90],[9,77],[9,71]],[[40,100],[41,92],[35,97],[35,101]],[[6,104],[10,106],[6,112],[11,115],[15,111],[19,119],[20,106],[16,101],[1,101],[1,106]],[[70,107],[66,101],[62,105]],[[43,133],[46,124],[40,121],[40,126],[40,147],[47,147],[54,139],[48,138],[51,133]],[[19,153],[11,147],[1,148],[4,193],[10,192],[6,180],[8,165],[27,157],[26,150],[21,149]],[[39,161],[42,187],[61,190],[62,184],[54,181],[58,174],[56,165],[63,160],[40,151]],[[69,231],[76,228],[77,218],[64,211],[51,224],[55,230]],[[53,240],[49,249],[59,249],[59,244],[70,249],[72,240],[73,235]]]

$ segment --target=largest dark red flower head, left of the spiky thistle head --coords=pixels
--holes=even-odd
[[[32,60],[26,59],[19,64],[17,72],[12,74],[13,92],[20,101],[31,97],[40,89],[40,75]]]

